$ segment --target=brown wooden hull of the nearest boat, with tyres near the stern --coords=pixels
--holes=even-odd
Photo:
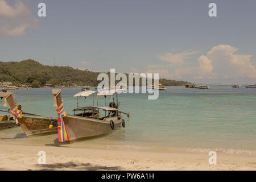
[[[69,139],[72,142],[113,133],[113,131],[117,130],[121,126],[123,118],[120,115],[119,118],[120,119],[117,120],[117,116],[115,116],[106,119],[106,121],[100,121],[93,118],[68,115],[68,117],[64,119],[64,123]],[[110,126],[110,120],[114,122],[114,130]]]

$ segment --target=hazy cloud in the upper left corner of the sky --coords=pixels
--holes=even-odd
[[[26,34],[28,28],[38,28],[38,19],[34,18],[28,7],[20,0],[14,6],[0,0],[0,36],[21,36]]]

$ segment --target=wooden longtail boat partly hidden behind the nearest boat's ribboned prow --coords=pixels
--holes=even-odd
[[[16,119],[18,119],[18,123],[22,127],[27,137],[31,135],[57,133],[56,117],[22,113],[22,111],[19,110],[18,106],[15,104],[12,93],[6,93],[5,98],[10,106],[11,113],[16,115]],[[17,111],[19,111],[18,114]]]

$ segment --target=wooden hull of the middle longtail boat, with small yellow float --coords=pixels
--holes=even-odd
[[[27,137],[39,134],[56,134],[58,130],[57,118],[55,117],[23,115],[22,118],[18,118],[18,121]],[[53,125],[52,129],[49,129],[49,125]]]

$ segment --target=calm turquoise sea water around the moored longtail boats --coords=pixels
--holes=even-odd
[[[256,89],[211,86],[210,89],[188,89],[167,86],[159,91],[158,100],[147,94],[119,94],[119,108],[125,115],[126,127],[110,135],[67,144],[69,147],[98,147],[130,150],[185,150],[253,152],[256,154]],[[72,114],[81,88],[61,88],[64,109]],[[15,90],[16,101],[27,113],[55,116],[51,89]],[[86,105],[92,105],[92,96]],[[80,98],[80,106],[85,105]],[[96,103],[96,102],[95,102]],[[107,104],[109,101],[107,102]],[[105,105],[104,97],[100,105]],[[2,115],[2,113],[1,113]],[[21,127],[0,130],[0,142],[49,145],[57,134],[27,138]]]

